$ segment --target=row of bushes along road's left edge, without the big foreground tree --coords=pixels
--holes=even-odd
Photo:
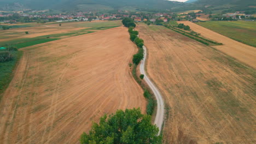
[[[139,64],[139,62],[141,62],[141,60],[144,57],[144,50],[143,50],[144,40],[138,38],[139,32],[135,31],[134,28],[136,27],[136,24],[133,22],[133,20],[126,17],[122,22],[124,23],[124,25],[126,27],[130,26],[128,29],[128,32],[130,33],[130,39],[138,47],[138,52],[135,55],[133,55],[133,58],[132,58],[132,62],[133,62],[132,75],[133,75],[134,79],[138,82],[138,84],[144,89],[144,97],[148,100],[147,114],[153,115],[156,102],[153,98],[153,95],[149,92],[148,88],[141,81],[141,80],[143,80],[144,75],[140,75],[138,77],[137,72],[136,72],[137,65]],[[131,27],[131,26],[135,26],[135,27]]]

